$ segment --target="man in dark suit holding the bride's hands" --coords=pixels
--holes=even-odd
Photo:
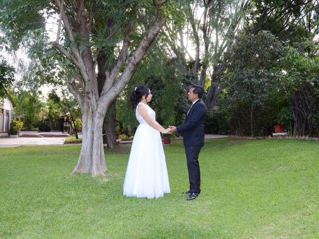
[[[169,126],[170,132],[183,133],[183,141],[187,159],[189,191],[186,200],[195,199],[200,193],[200,170],[198,155],[204,145],[204,124],[207,115],[205,104],[200,100],[204,90],[201,86],[192,85],[188,92],[188,100],[192,102],[189,108],[185,123]]]

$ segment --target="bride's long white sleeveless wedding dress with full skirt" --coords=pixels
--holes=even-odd
[[[138,126],[126,170],[123,195],[138,198],[159,198],[170,193],[167,168],[160,132],[149,125],[138,112],[145,107],[155,121],[155,111],[140,102],[136,108]]]

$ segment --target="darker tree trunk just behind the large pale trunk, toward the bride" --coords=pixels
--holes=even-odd
[[[103,123],[103,128],[104,128],[103,141],[104,143],[108,145],[108,148],[115,148],[118,145],[115,138],[115,124],[116,124],[116,111],[115,111],[115,101],[113,101],[106,114],[106,117]]]

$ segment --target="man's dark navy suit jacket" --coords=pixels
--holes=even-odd
[[[178,133],[183,133],[184,145],[204,145],[204,124],[207,116],[205,104],[198,100],[186,115],[185,123],[176,127]]]

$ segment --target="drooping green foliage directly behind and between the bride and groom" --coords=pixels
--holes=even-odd
[[[156,119],[161,125],[167,127],[183,123],[189,103],[177,65],[177,60],[167,58],[159,47],[154,48],[140,64],[116,102],[117,120],[125,131],[132,135],[138,126],[135,109],[132,110],[130,102],[131,93],[138,85],[150,88],[153,95],[150,106],[157,113]]]

